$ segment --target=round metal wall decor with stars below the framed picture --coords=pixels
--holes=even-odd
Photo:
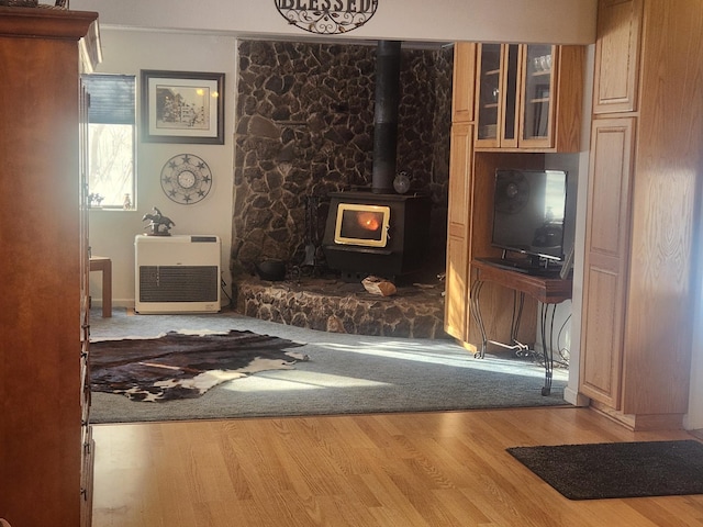
[[[203,200],[212,188],[212,172],[200,157],[179,154],[161,169],[161,189],[176,203],[192,205]]]

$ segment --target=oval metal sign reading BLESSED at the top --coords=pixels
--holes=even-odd
[[[310,33],[334,35],[366,24],[378,8],[378,0],[275,0],[276,9],[288,21]]]

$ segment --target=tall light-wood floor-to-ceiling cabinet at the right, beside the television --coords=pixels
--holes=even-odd
[[[701,223],[703,16],[695,0],[601,0],[598,27],[580,391],[632,428],[678,427]],[[637,65],[637,78],[615,65]]]

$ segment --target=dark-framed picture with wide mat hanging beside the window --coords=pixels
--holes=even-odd
[[[142,70],[142,141],[224,144],[224,74]]]

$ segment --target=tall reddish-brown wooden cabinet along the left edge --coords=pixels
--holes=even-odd
[[[97,13],[0,7],[0,517],[90,523],[79,74]]]

